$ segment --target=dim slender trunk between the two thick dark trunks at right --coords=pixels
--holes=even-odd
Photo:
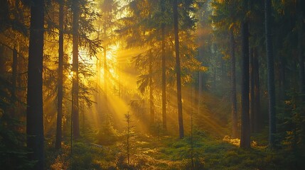
[[[260,113],[260,97],[259,97],[259,57],[257,49],[253,49],[253,90],[254,90],[254,109],[253,114],[253,132],[258,132],[261,129],[262,114]]]

